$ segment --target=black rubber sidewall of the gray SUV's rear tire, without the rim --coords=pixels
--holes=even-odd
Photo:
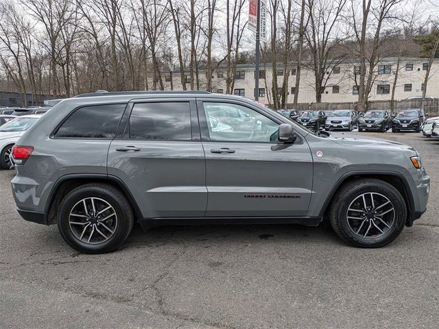
[[[84,243],[75,237],[69,226],[69,214],[75,204],[80,202],[81,199],[86,197],[99,197],[104,199],[108,204],[114,208],[117,215],[117,227],[116,231],[110,239],[103,243],[95,245]],[[104,188],[95,186],[88,186],[84,188],[77,188],[69,193],[58,210],[58,228],[64,238],[71,247],[88,253],[100,253],[108,252],[117,248],[126,239],[127,230],[130,230],[130,223],[128,222],[128,214],[123,208],[123,205],[119,202],[116,195],[113,195],[110,191],[106,191]]]

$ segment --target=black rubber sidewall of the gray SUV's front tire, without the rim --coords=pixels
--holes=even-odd
[[[356,199],[359,195],[364,193],[379,193],[387,197],[392,205],[394,206],[394,223],[388,232],[385,232],[384,235],[379,236],[375,239],[366,239],[361,236],[355,234],[351,228],[348,226],[347,221],[347,210],[351,205],[354,199]],[[373,184],[368,183],[361,186],[357,186],[351,190],[351,193],[347,197],[345,197],[340,203],[340,208],[338,211],[338,221],[340,229],[346,238],[352,241],[355,244],[359,244],[361,246],[376,246],[379,247],[381,245],[385,245],[393,239],[401,232],[404,227],[405,219],[407,218],[407,210],[405,208],[405,202],[401,195],[397,191],[393,191],[389,186],[381,186],[381,184]]]

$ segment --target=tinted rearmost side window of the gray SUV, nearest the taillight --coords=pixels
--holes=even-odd
[[[86,106],[73,112],[56,137],[114,138],[126,104]]]

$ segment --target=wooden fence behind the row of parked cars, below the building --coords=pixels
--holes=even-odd
[[[394,101],[395,110],[407,110],[407,108],[420,108],[420,99],[404,99],[401,101]],[[370,110],[389,110],[390,101],[369,101]],[[308,110],[355,110],[357,106],[356,101],[345,103],[298,103],[297,106],[287,104],[287,108],[295,108],[299,111]],[[439,99],[425,99],[424,109],[428,114],[439,115]]]

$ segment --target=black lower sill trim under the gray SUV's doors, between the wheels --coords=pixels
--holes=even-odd
[[[139,219],[143,230],[169,225],[302,224],[318,226],[322,217],[165,217]]]

